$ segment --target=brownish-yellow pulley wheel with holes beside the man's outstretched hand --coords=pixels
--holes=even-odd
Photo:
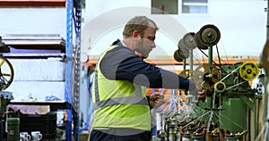
[[[221,80],[220,68],[213,66],[211,63],[199,65],[194,71],[196,86],[203,89],[212,89],[214,84]]]

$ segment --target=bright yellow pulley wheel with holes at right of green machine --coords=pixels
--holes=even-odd
[[[259,74],[259,68],[253,62],[244,62],[239,68],[239,75],[246,81],[256,79]]]

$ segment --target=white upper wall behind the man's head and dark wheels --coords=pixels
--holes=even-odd
[[[181,37],[187,32],[197,32],[205,24],[220,29],[221,55],[259,56],[265,46],[267,1],[209,0],[209,14],[206,15],[152,15],[150,6],[150,0],[86,1],[82,53],[99,55],[113,40],[121,37],[125,22],[139,14],[150,16],[160,27],[156,38],[158,47],[152,51],[152,58],[172,55]],[[196,57],[200,55],[197,51]]]

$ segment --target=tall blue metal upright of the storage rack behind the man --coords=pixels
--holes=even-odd
[[[65,101],[72,104],[76,113],[80,112],[80,55],[81,55],[81,22],[82,22],[82,0],[68,0],[66,12],[66,85]],[[75,30],[75,46],[73,46],[73,20]],[[74,63],[73,63],[74,61]],[[74,74],[73,74],[74,71]],[[73,81],[72,81],[73,80]],[[66,120],[65,140],[72,140],[72,107],[68,107]],[[73,117],[74,140],[78,140],[79,117]]]

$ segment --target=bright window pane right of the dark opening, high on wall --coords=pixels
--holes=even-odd
[[[208,13],[208,0],[182,0],[182,13]]]

